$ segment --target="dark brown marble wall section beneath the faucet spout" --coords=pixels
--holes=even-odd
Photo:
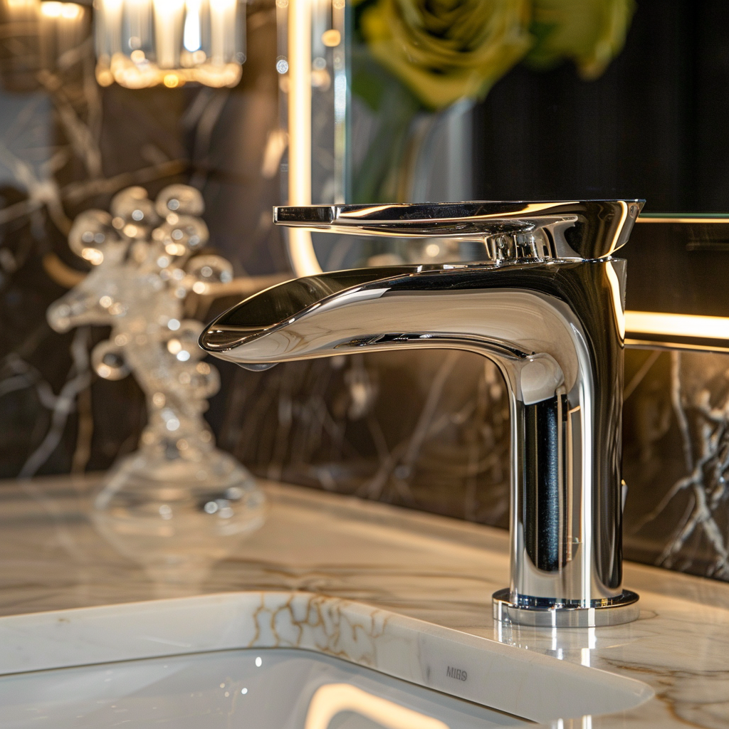
[[[508,526],[508,402],[480,356],[293,362],[232,391],[220,443],[260,475]]]

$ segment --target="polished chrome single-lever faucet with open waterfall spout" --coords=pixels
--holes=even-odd
[[[275,208],[354,235],[483,241],[486,262],[322,273],[254,295],[200,345],[252,370],[292,359],[452,348],[510,393],[511,583],[494,617],[545,626],[638,617],[622,588],[625,261],[642,200]]]

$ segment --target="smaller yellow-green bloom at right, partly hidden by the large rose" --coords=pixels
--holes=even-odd
[[[549,69],[564,58],[574,61],[583,79],[596,79],[622,50],[635,12],[634,0],[532,0],[527,56],[532,66]]]

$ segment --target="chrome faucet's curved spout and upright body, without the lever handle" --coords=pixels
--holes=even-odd
[[[200,342],[256,367],[403,348],[492,359],[510,391],[510,619],[562,606],[559,615],[585,620],[596,606],[625,607],[624,275],[619,260],[327,273],[246,300]]]

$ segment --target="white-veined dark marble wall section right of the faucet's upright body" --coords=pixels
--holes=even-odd
[[[729,356],[628,352],[629,558],[729,580]]]

